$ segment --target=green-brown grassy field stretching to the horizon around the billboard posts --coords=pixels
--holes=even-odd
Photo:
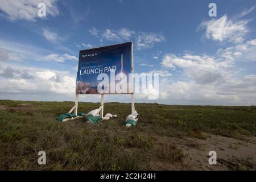
[[[135,104],[141,118],[137,127],[129,129],[123,123],[130,104],[106,103],[104,111],[118,118],[97,125],[84,119],[57,123],[56,118],[72,106],[73,102],[1,100],[0,169],[201,169],[191,167],[185,147],[199,150],[200,142],[212,135],[240,142],[256,136],[255,106]],[[87,113],[99,106],[80,102],[79,111]],[[183,144],[185,140],[192,142]],[[232,144],[229,148],[238,150]],[[47,154],[47,164],[42,166],[37,163],[41,150]],[[255,169],[250,159],[220,163],[228,169]]]

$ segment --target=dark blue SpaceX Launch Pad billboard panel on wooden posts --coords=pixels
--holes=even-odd
[[[123,77],[127,77],[129,84],[133,61],[131,54],[131,42],[80,51],[76,94],[102,94],[99,88],[104,89],[104,94],[120,93],[115,86]],[[102,84],[102,81],[105,81],[105,84]],[[128,87],[126,93],[132,93]]]

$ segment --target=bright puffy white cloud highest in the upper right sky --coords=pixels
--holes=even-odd
[[[219,19],[202,22],[199,29],[205,28],[205,35],[208,39],[219,42],[241,43],[249,32],[248,22],[249,20],[228,19],[228,16],[224,15]]]

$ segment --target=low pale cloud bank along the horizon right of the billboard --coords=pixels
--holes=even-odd
[[[255,105],[256,75],[233,75],[219,84],[166,81],[160,88],[167,92],[168,103],[197,105]]]

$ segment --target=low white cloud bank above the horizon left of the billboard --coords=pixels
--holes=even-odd
[[[1,71],[9,69],[12,75],[1,75]],[[24,77],[29,73],[31,77]],[[0,68],[0,94],[64,94],[71,95],[75,90],[76,77],[64,71],[35,68]]]

